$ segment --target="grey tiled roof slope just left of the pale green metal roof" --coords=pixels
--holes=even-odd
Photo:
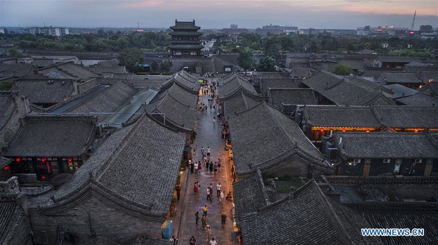
[[[102,92],[92,96],[66,113],[112,113],[137,91],[125,82],[117,82]],[[98,114],[99,121],[104,120],[109,114]]]

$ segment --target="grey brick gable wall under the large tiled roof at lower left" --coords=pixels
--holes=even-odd
[[[96,196],[91,196],[80,205],[68,207],[55,213],[44,214],[44,210],[29,210],[33,230],[46,230],[49,244],[55,244],[56,237],[63,232],[79,235],[81,243],[90,240],[90,229],[101,236],[115,241],[126,241],[146,234],[151,238],[161,238],[163,221],[147,221],[116,209]]]

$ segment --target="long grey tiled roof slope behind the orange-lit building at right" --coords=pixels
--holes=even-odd
[[[393,105],[380,91],[349,81],[325,70],[313,74],[303,83],[337,105]]]

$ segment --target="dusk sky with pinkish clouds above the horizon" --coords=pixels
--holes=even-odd
[[[0,0],[0,26],[168,27],[196,20],[203,29],[256,28],[266,24],[298,28],[355,29],[365,25],[438,27],[437,0]]]

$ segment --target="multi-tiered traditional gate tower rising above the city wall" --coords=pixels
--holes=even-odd
[[[172,36],[170,49],[172,57],[200,56],[203,48],[199,37],[202,33],[198,32],[201,27],[195,25],[193,21],[178,21],[175,19],[175,25],[171,26],[173,30],[169,33]]]

